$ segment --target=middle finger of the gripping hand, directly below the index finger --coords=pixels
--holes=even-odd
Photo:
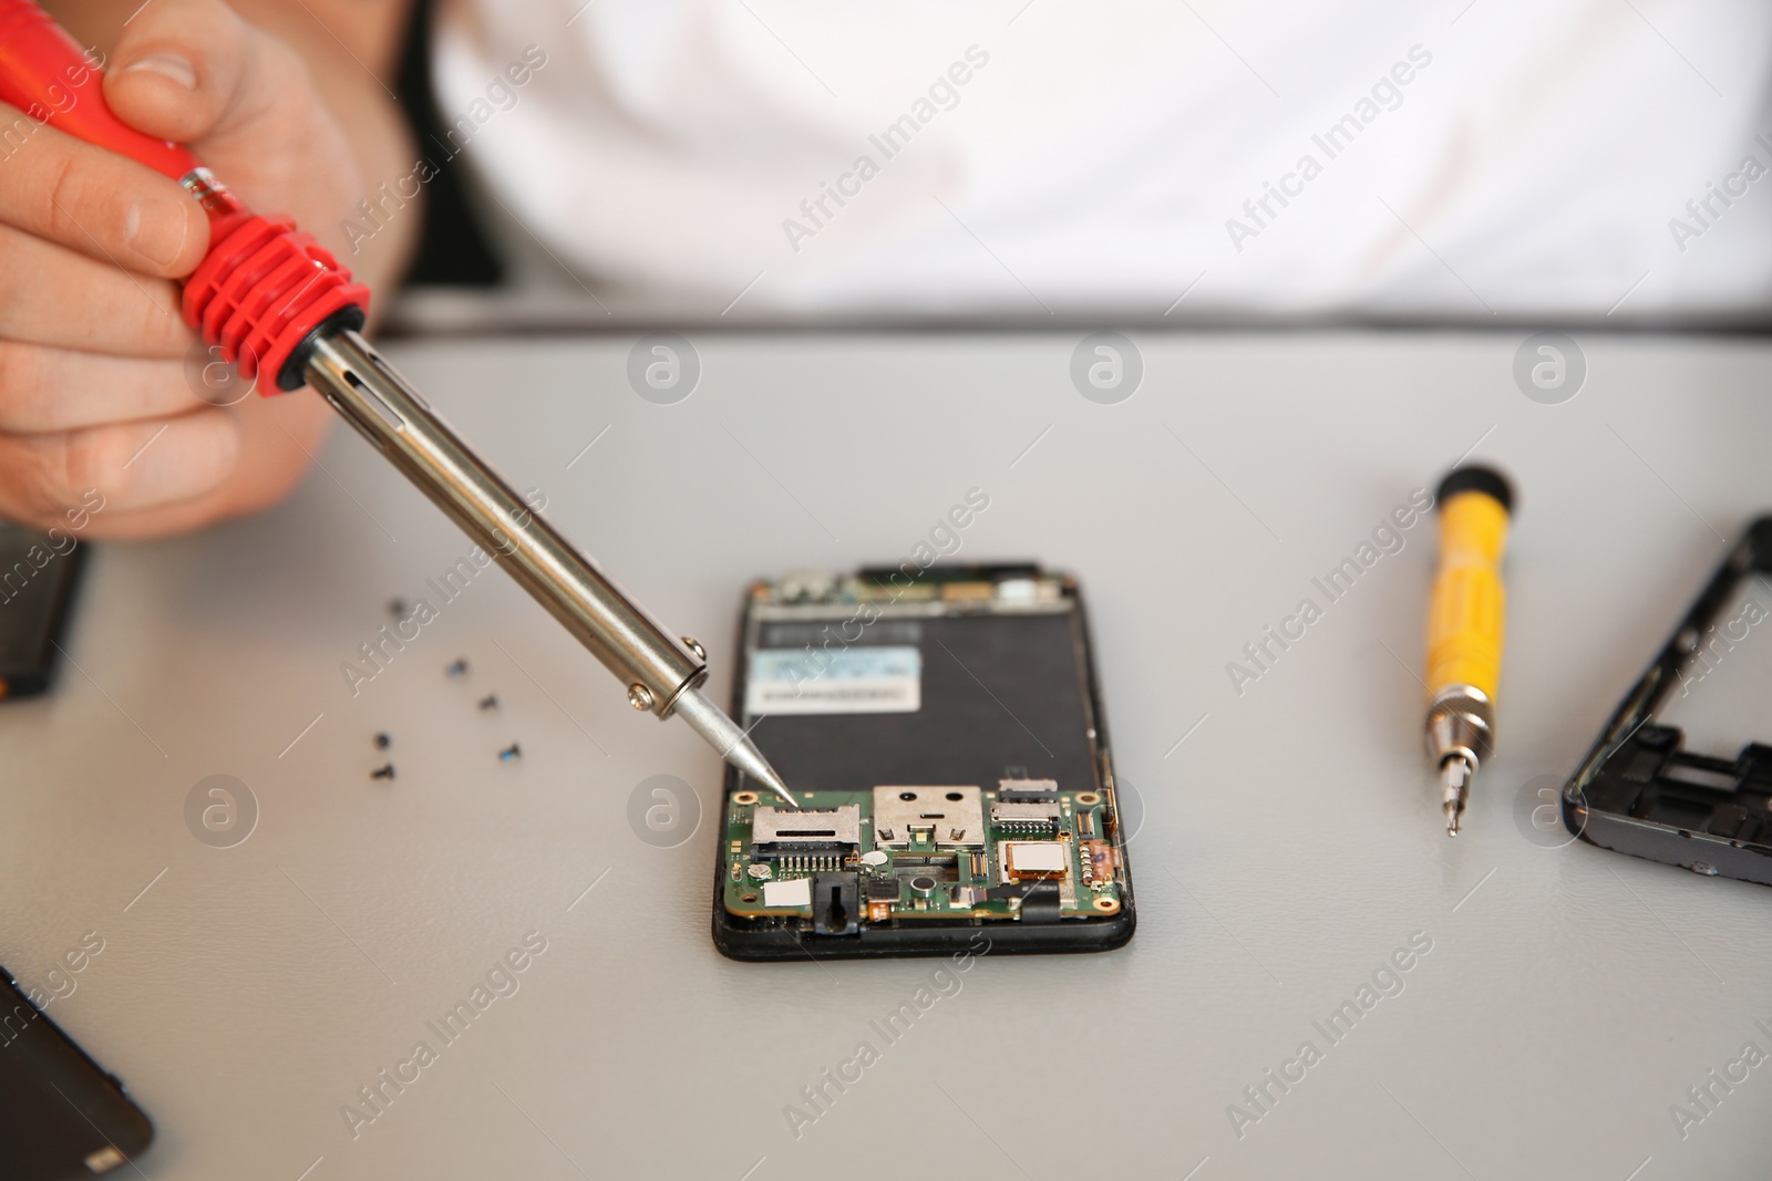
[[[0,336],[112,356],[181,358],[179,289],[0,225]]]

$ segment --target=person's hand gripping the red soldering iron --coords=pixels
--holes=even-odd
[[[220,0],[152,0],[106,62],[105,96],[126,124],[190,145],[248,207],[347,257],[358,163],[280,39]],[[87,536],[156,536],[299,482],[331,413],[310,391],[214,388],[175,283],[207,248],[174,181],[0,104],[0,513],[57,524],[96,489]]]

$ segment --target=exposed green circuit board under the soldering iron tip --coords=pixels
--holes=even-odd
[[[858,924],[1058,922],[1122,908],[1111,791],[1049,779],[804,791],[789,809],[734,791],[725,907],[744,917]]]

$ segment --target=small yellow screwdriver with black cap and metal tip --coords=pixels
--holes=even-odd
[[[1428,604],[1428,754],[1444,791],[1446,836],[1458,822],[1481,760],[1496,749],[1496,682],[1513,489],[1490,467],[1455,467],[1434,494],[1439,568]]]

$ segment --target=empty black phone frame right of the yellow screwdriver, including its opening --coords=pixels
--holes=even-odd
[[[1772,885],[1768,575],[1772,517],[1761,517],[1563,788],[1570,832],[1620,853]],[[1744,731],[1767,742],[1724,754]]]

